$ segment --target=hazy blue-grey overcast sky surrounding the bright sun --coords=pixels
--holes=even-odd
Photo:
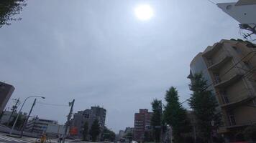
[[[75,112],[104,107],[115,132],[133,127],[134,113],[170,86],[187,99],[193,57],[221,39],[242,39],[238,22],[207,0],[27,2],[22,21],[0,29],[0,80],[16,88],[7,107],[31,95],[47,104],[76,99]],[[152,19],[137,19],[139,4],[152,6]],[[68,112],[38,103],[32,115],[63,124]]]

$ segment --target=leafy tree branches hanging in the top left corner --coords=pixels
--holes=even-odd
[[[4,25],[10,25],[9,21],[21,20],[21,18],[14,18],[13,16],[19,14],[23,6],[27,6],[25,0],[1,0],[0,28]]]

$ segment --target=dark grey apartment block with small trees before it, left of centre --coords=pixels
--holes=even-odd
[[[91,125],[93,121],[97,119],[99,121],[99,126],[101,129],[101,133],[99,134],[99,139],[101,139],[102,131],[105,126],[106,120],[106,109],[101,107],[91,107],[91,109],[86,109],[84,111],[78,111],[74,114],[73,119],[71,120],[71,124],[73,127],[78,129],[77,138],[83,137],[83,126],[86,122],[88,122],[88,129],[91,129]]]

